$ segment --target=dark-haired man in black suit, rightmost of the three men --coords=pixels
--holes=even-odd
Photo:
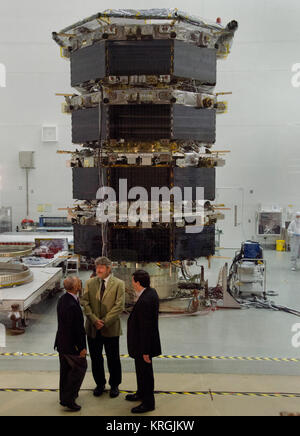
[[[128,320],[128,352],[135,359],[138,390],[134,395],[127,395],[126,400],[141,401],[132,413],[146,413],[155,410],[152,358],[161,355],[159,298],[156,290],[150,287],[150,276],[146,271],[136,271],[132,284],[137,302]]]

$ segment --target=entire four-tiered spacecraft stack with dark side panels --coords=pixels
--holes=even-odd
[[[227,111],[215,94],[217,59],[229,54],[237,28],[236,21],[224,27],[177,9],[110,9],[53,33],[70,59],[76,89],[65,95],[63,111],[72,116],[72,142],[83,146],[71,158],[73,196],[81,201],[69,210],[76,253],[145,268],[214,255],[215,224],[222,218],[212,203],[216,167],[225,161],[213,145],[216,116]],[[116,194],[108,222],[98,215],[104,187]],[[136,187],[146,197],[135,205],[133,220]],[[154,187],[169,190],[156,214]],[[172,188],[187,187],[195,216],[202,188],[202,231],[191,229],[188,215],[178,218],[170,196]],[[166,203],[169,221],[163,219]],[[173,283],[172,267],[167,274]]]

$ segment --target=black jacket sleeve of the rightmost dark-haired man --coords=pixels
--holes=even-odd
[[[140,346],[143,355],[150,355],[152,349],[152,337],[154,333],[154,321],[156,316],[156,303],[143,302],[139,308],[138,317],[140,325]]]

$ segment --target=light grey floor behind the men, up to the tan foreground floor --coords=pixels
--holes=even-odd
[[[224,250],[222,256],[233,257]],[[267,288],[279,293],[278,304],[300,310],[300,269],[290,271],[288,253],[265,251],[267,260]],[[207,272],[214,285],[224,259],[214,259]],[[230,260],[228,260],[230,263]],[[23,336],[7,338],[7,352],[48,353],[53,351],[56,330],[56,302],[53,298],[32,308],[30,325]],[[6,323],[0,315],[0,322]],[[300,357],[292,346],[292,326],[300,322],[296,316],[267,310],[219,310],[206,316],[162,318],[160,321],[164,354]],[[122,319],[124,336],[121,352],[126,354],[126,317]],[[0,358],[2,370],[57,370],[55,358]],[[124,371],[133,371],[132,362],[123,360]],[[156,370],[168,373],[231,373],[300,375],[300,365],[276,362],[157,360]]]

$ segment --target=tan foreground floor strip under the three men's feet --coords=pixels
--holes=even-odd
[[[31,391],[33,380],[34,392]],[[58,405],[57,380],[56,372],[7,372],[5,381],[0,378],[0,416],[73,416]],[[157,389],[169,391],[172,386],[173,391],[183,393],[157,393],[157,408],[147,415],[279,416],[282,412],[299,413],[298,380],[298,377],[282,376],[157,374]],[[14,392],[16,386],[23,391]],[[135,386],[134,374],[124,374],[122,389],[134,390]],[[107,393],[94,398],[93,387],[89,373],[78,398],[82,410],[76,416],[132,416],[130,409],[133,405],[125,401],[124,391],[113,400]],[[7,391],[2,391],[2,388]]]

